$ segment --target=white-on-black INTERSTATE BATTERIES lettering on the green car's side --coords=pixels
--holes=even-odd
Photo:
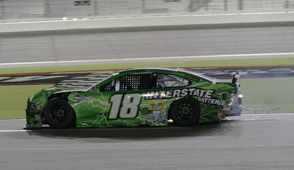
[[[212,97],[211,95],[212,93],[214,93],[214,91],[215,90],[205,90],[200,88],[176,89],[176,90],[167,90],[167,91],[148,91],[146,92],[146,97],[144,97],[144,100],[170,99],[175,97],[193,96],[198,101],[204,104],[224,106],[226,104],[225,101],[211,98]],[[152,106],[150,105],[150,103],[151,102],[149,102],[149,110],[152,110]]]

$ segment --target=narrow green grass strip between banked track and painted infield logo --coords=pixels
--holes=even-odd
[[[194,61],[165,61],[165,62],[139,62],[139,63],[113,63],[92,65],[56,65],[42,67],[15,67],[0,68],[0,74],[14,73],[42,73],[60,71],[128,69],[128,68],[167,68],[167,67],[229,67],[229,66],[271,66],[294,65],[294,57],[282,58],[248,58],[231,60],[194,60]]]

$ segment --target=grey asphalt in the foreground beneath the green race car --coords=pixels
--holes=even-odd
[[[220,124],[23,130],[0,121],[0,169],[292,170],[293,114],[242,115]]]

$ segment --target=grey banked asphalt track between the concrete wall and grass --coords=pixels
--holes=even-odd
[[[82,32],[87,33],[87,32]],[[294,27],[232,28],[207,30],[172,30],[98,34],[65,34],[8,36],[0,39],[0,64],[19,62],[109,60],[69,63],[0,65],[25,67],[43,65],[74,65],[121,62],[179,60],[215,60],[260,57],[293,57]],[[211,55],[237,55],[219,57]],[[163,57],[161,59],[127,60],[125,58]],[[166,57],[181,57],[170,59]],[[117,60],[117,61],[116,61]]]

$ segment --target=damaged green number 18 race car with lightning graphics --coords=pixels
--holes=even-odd
[[[178,125],[221,121],[241,113],[240,73],[218,80],[184,69],[115,73],[86,90],[44,89],[28,98],[24,128]]]

